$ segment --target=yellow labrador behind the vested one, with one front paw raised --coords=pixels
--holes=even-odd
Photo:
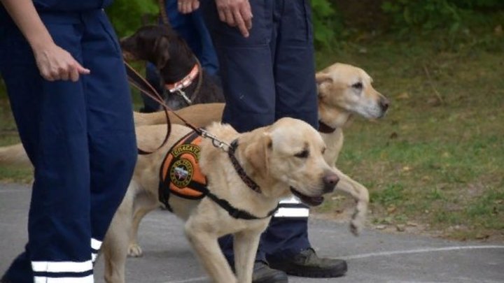
[[[316,73],[318,89],[318,119],[319,131],[327,145],[324,159],[337,171],[339,182],[336,190],[350,194],[356,200],[350,228],[358,234],[363,228],[369,193],[367,188],[345,175],[334,165],[342,150],[344,136],[343,129],[353,115],[360,115],[366,119],[379,119],[386,114],[390,102],[372,87],[372,78],[363,69],[348,64],[332,64]],[[187,117],[188,121],[197,126],[220,121],[224,109],[223,103],[209,103],[183,108],[177,113]],[[135,124],[164,124],[164,113],[135,113]],[[183,124],[177,117],[170,117],[171,121]],[[1,156],[1,154],[0,154]],[[143,217],[141,212],[135,217],[130,256],[141,256],[141,248],[137,244],[137,228]]]

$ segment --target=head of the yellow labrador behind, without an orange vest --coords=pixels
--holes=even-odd
[[[316,73],[319,113],[332,109],[355,113],[366,119],[385,115],[390,102],[372,87],[372,78],[363,69],[347,64],[333,64]],[[331,119],[331,117],[328,117]]]

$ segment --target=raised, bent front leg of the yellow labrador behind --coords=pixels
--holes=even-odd
[[[342,171],[337,168],[335,169],[339,177],[336,189],[350,194],[357,202],[350,222],[350,231],[353,235],[358,235],[365,224],[367,205],[369,204],[369,191],[362,184],[342,173]]]

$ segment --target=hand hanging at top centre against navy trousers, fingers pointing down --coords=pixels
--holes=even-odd
[[[219,19],[231,27],[237,27],[241,35],[248,37],[252,28],[252,11],[248,0],[216,0]]]

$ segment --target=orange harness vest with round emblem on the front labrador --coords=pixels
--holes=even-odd
[[[207,177],[201,172],[200,143],[195,131],[183,136],[168,151],[160,169],[160,201],[169,208],[169,194],[182,198],[200,199],[207,193]]]

